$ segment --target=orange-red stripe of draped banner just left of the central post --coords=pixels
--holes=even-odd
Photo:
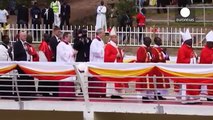
[[[30,68],[26,68],[23,66],[19,67],[23,69],[25,72],[30,73],[30,74],[40,74],[40,75],[75,75],[75,70],[68,70],[68,71],[59,71],[59,72],[44,72],[44,71],[36,71]]]

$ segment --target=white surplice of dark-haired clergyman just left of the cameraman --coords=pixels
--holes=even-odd
[[[56,49],[56,62],[75,62],[74,49],[71,44],[66,44],[63,41],[58,44]]]

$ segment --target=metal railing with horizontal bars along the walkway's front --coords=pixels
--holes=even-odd
[[[104,63],[103,63],[104,64]],[[130,63],[131,64],[131,63]],[[66,81],[56,81],[56,80],[38,80],[33,78],[33,76],[53,76],[49,74],[18,74],[16,70],[10,72],[9,74],[4,74],[0,77],[0,97],[2,99],[14,99],[16,101],[25,100],[75,100],[84,102],[94,102],[94,101],[108,101],[108,102],[122,102],[122,103],[134,103],[142,102],[142,96],[150,96],[151,100],[143,100],[143,102],[153,102],[154,104],[169,104],[184,102],[187,97],[194,97],[201,99],[200,102],[208,103],[204,100],[206,98],[213,99],[213,96],[208,95],[207,92],[213,92],[213,89],[206,89],[199,95],[178,95],[175,91],[186,92],[186,90],[200,91],[201,88],[197,89],[186,89],[186,88],[176,88],[175,86],[180,85],[200,85],[200,86],[213,86],[209,82],[199,82],[199,80],[211,81],[209,78],[195,78],[195,77],[166,77],[163,74],[161,76],[151,75],[151,76],[123,76],[123,80],[132,79],[129,81],[109,81],[101,80],[101,78],[114,77],[106,75],[91,75],[89,73],[79,71],[78,64],[73,64],[76,75],[60,75],[55,76],[66,76],[69,79]],[[122,64],[121,64],[122,66]],[[209,68],[212,66],[210,65]],[[136,80],[137,79],[137,80]],[[149,81],[141,81],[141,79]],[[164,82],[159,82],[159,79],[163,79]],[[194,80],[195,82],[174,82],[176,79],[180,81],[183,79]],[[165,82],[165,80],[167,82]],[[111,84],[122,84],[123,86],[115,87],[107,86],[108,83]],[[125,84],[125,85],[124,85]],[[139,86],[149,86],[149,87],[136,87]],[[151,87],[152,86],[152,87]],[[164,86],[159,88],[158,86]],[[167,87],[165,87],[167,86]],[[151,91],[152,93],[144,93],[143,91]],[[167,100],[162,100],[158,96],[157,91],[167,91],[162,94]],[[123,97],[123,99],[115,98],[111,99],[111,95],[118,95]],[[181,98],[181,99],[178,99]]]

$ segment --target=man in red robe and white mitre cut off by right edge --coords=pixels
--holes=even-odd
[[[206,35],[206,45],[200,53],[200,64],[213,64],[213,31]],[[210,82],[210,84],[213,83]],[[207,89],[208,95],[213,96],[213,85],[207,85]],[[207,101],[213,101],[213,99],[207,98]]]

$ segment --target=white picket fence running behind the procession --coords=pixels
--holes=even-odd
[[[83,26],[65,26],[62,29],[62,32],[71,32],[76,28],[82,28]],[[69,28],[69,29],[68,29]],[[93,39],[95,37],[95,27],[94,26],[85,26],[88,32],[88,37]],[[52,33],[52,29],[46,29],[45,26],[40,25],[34,28],[33,26],[28,26],[28,28],[18,28],[18,25],[11,25],[8,30],[4,30],[4,33],[9,35],[12,41],[16,40],[18,31],[25,29],[28,31],[28,34],[32,36],[33,43],[40,43],[43,39],[44,33]],[[203,40],[205,35],[210,29],[207,28],[189,28],[194,40],[194,48],[202,48]],[[142,38],[145,36],[154,37],[158,36],[163,40],[162,47],[180,47],[181,36],[180,31],[185,31],[186,28],[179,27],[146,27],[141,31],[138,27],[129,27],[129,28],[120,28],[117,27],[118,34],[118,45],[119,46],[140,46],[143,43]],[[107,38],[105,38],[107,42]]]

